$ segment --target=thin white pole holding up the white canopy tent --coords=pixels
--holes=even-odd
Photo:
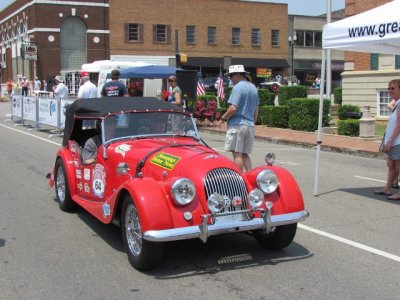
[[[315,185],[314,185],[314,196],[318,196],[318,185],[319,185],[319,157],[322,144],[322,118],[324,108],[324,87],[325,87],[325,64],[326,64],[326,50],[322,50],[321,59],[321,85],[319,90],[319,113],[318,113],[318,136],[317,136],[317,158],[315,162]]]

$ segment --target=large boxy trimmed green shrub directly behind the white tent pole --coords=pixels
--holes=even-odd
[[[323,100],[322,126],[329,126],[330,100]],[[319,99],[295,98],[288,103],[289,128],[314,131],[318,129]]]

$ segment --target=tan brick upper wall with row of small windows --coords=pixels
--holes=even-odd
[[[122,8],[122,9],[121,9]],[[137,13],[140,12],[140,13]],[[174,32],[179,50],[188,56],[287,59],[287,4],[239,2],[237,0],[113,0],[110,5],[111,55],[174,55]],[[143,43],[124,40],[124,24],[144,25]],[[169,44],[154,44],[153,25],[171,25]],[[196,26],[196,43],[186,44],[186,25]],[[207,27],[217,27],[217,44],[208,45]],[[241,29],[240,45],[231,43],[232,27]],[[261,46],[251,46],[251,29],[261,29]],[[280,46],[271,47],[271,30],[280,30]]]

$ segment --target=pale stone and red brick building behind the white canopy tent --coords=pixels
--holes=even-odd
[[[346,0],[345,16],[350,17],[390,0]],[[355,26],[357,26],[355,24]],[[400,79],[400,56],[379,53],[345,52],[342,73],[343,104],[369,106],[377,120],[387,120],[387,91],[391,79]]]

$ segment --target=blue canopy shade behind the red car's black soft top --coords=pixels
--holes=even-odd
[[[167,78],[171,75],[175,75],[179,68],[168,67],[168,66],[144,66],[144,67],[132,67],[121,69],[120,78]]]

